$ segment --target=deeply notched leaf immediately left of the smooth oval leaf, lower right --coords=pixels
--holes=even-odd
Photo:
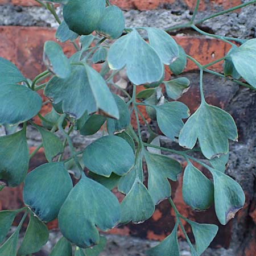
[[[177,175],[181,173],[182,168],[179,162],[168,156],[145,151],[144,157],[148,170],[148,192],[156,205],[171,196],[168,179],[177,181]]]

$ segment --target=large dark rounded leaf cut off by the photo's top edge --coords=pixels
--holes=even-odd
[[[89,35],[97,28],[105,9],[105,0],[72,0],[63,7],[63,18],[70,30]]]

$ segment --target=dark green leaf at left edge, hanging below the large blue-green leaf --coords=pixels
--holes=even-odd
[[[27,175],[29,151],[26,129],[0,137],[0,180],[16,187]]]

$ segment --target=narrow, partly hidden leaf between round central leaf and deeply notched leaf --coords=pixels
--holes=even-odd
[[[143,168],[142,168],[142,158],[143,153],[141,150],[137,151],[137,162],[134,167],[127,174],[123,175],[118,181],[118,191],[127,195],[133,187],[136,177],[143,183]]]

